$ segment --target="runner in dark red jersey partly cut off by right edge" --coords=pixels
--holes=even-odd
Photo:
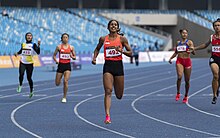
[[[195,50],[205,49],[210,44],[212,45],[212,56],[209,59],[209,65],[212,70],[213,79],[212,79],[212,91],[213,91],[213,99],[212,104],[216,104],[217,96],[218,96],[218,87],[219,87],[219,67],[220,67],[220,18],[213,22],[213,28],[215,33],[211,35],[209,40],[195,47]]]

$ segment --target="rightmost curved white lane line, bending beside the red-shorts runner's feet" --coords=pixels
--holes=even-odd
[[[208,89],[208,88],[210,88],[210,87],[211,87],[211,85],[206,86],[206,87],[200,89],[199,91],[197,91],[197,92],[193,93],[192,95],[190,95],[190,96],[189,96],[189,99],[190,99],[191,97],[193,97],[194,95],[196,95],[196,94],[198,94],[198,93],[201,93],[202,91],[204,91],[204,90],[206,90],[206,89]],[[210,104],[211,104],[211,103],[210,103]],[[220,116],[217,115],[217,114],[212,114],[212,113],[209,113],[209,112],[200,110],[200,109],[198,109],[198,108],[196,108],[196,107],[190,105],[189,103],[187,103],[186,105],[187,105],[188,107],[190,107],[191,109],[196,110],[196,111],[198,111],[198,112],[200,112],[200,113],[203,113],[203,114],[206,114],[206,115],[209,115],[209,116],[214,116],[214,117],[220,118]]]

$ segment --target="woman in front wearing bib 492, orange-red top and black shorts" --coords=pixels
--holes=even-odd
[[[105,89],[104,105],[106,119],[105,123],[111,123],[110,107],[111,95],[114,86],[115,95],[121,99],[124,93],[124,69],[122,63],[122,54],[131,57],[132,50],[126,37],[119,34],[119,23],[116,20],[110,20],[108,23],[109,34],[99,38],[99,43],[94,50],[92,64],[96,64],[96,57],[99,50],[104,45],[105,64],[103,66],[103,85]],[[126,51],[123,51],[125,47]]]

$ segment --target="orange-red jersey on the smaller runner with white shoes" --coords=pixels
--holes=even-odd
[[[61,48],[59,51],[59,63],[70,63],[70,53],[70,45],[68,45],[67,48],[64,48],[64,45],[61,44]]]

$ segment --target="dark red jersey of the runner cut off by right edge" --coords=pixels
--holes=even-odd
[[[211,35],[212,55],[220,57],[220,39],[216,35]]]

